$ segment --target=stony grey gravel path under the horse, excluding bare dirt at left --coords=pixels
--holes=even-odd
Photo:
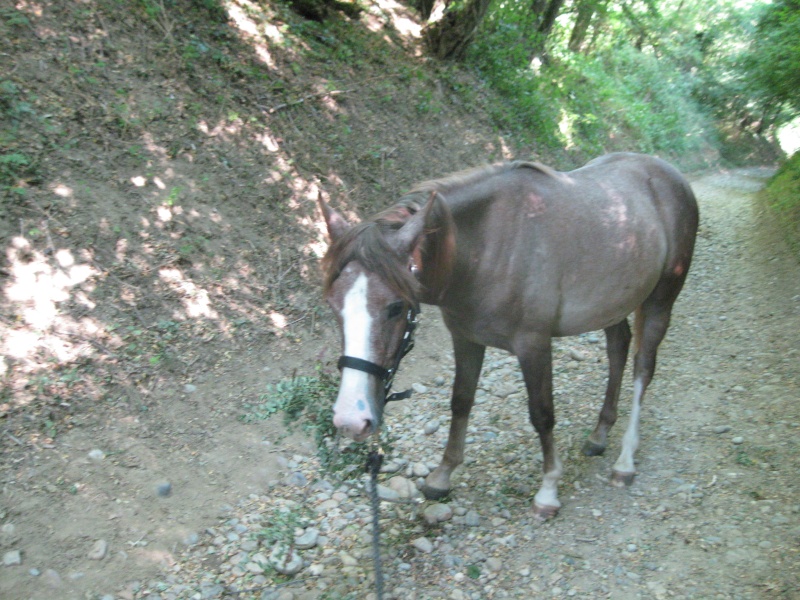
[[[420,339],[405,373],[419,377],[417,393],[386,419],[395,437],[380,488],[388,598],[800,598],[800,269],[753,208],[766,175],[693,183],[696,260],[648,391],[629,489],[608,484],[629,378],[607,455],[580,453],[606,376],[604,338],[592,333],[556,346],[558,517],[539,523],[529,510],[539,447],[515,361],[496,351],[454,493],[423,502],[414,484],[444,447],[452,358],[432,366]],[[441,326],[427,326],[443,343]],[[318,479],[316,458],[299,451],[280,460],[283,479],[224,507],[162,579],[131,596],[374,597],[364,478]],[[264,543],[295,527],[298,555]]]

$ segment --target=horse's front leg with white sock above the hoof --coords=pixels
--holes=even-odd
[[[553,410],[552,342],[549,336],[529,338],[517,345],[516,353],[528,390],[531,424],[539,434],[542,445],[542,487],[533,498],[533,510],[539,518],[548,519],[555,516],[561,507],[558,481],[562,472],[553,440],[556,420]]]

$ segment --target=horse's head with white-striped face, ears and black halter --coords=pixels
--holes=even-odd
[[[318,201],[331,241],[322,263],[324,294],[343,341],[333,422],[363,441],[377,431],[392,379],[413,343],[426,224],[442,201],[431,194],[422,208],[408,202],[355,225]]]

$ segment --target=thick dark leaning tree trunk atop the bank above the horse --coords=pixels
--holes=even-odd
[[[491,2],[466,0],[459,10],[452,10],[450,2],[447,2],[442,18],[425,28],[428,51],[442,60],[462,60]]]

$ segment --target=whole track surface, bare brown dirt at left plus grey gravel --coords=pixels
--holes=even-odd
[[[800,598],[800,266],[755,207],[768,174],[692,182],[695,262],[645,399],[628,489],[608,475],[630,376],[607,454],[584,457],[604,339],[558,341],[564,506],[552,521],[529,509],[539,447],[518,369],[500,352],[487,356],[451,497],[432,506],[403,487],[438,461],[449,424],[452,354],[425,310],[396,384],[417,393],[386,416],[395,441],[383,483],[400,500],[383,504],[388,597]],[[320,478],[310,444],[281,439],[279,423],[241,423],[241,405],[226,406],[237,385],[253,395],[293,369],[311,373],[320,344],[336,343],[330,330],[321,336],[283,363],[231,353],[162,403],[172,408],[161,427],[98,422],[29,458],[24,477],[4,481],[0,597],[372,597],[363,480]],[[94,448],[119,455],[93,459]],[[60,489],[59,474],[80,485]],[[276,587],[264,531],[295,513],[311,547],[296,579]]]

